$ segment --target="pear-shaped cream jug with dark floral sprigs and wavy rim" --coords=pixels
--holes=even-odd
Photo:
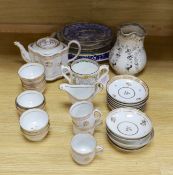
[[[134,75],[143,70],[147,61],[144,37],[145,30],[138,24],[120,27],[109,56],[110,65],[117,74]]]

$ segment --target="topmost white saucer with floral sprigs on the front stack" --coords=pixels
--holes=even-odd
[[[115,135],[126,139],[142,138],[152,131],[150,119],[134,108],[118,108],[110,112],[106,125]]]

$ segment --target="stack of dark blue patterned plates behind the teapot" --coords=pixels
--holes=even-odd
[[[68,44],[71,40],[78,40],[81,44],[79,58],[88,58],[95,61],[108,60],[112,48],[113,35],[110,28],[94,23],[74,23],[64,27],[56,33],[55,38]],[[77,46],[72,45],[69,59],[77,53]]]

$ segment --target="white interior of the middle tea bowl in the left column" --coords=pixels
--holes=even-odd
[[[17,104],[24,108],[33,108],[44,102],[44,96],[37,91],[24,91],[16,99]]]

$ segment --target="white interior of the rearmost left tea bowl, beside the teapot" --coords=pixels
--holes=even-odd
[[[38,63],[28,63],[22,66],[18,73],[21,78],[34,79],[44,74],[44,67]]]

